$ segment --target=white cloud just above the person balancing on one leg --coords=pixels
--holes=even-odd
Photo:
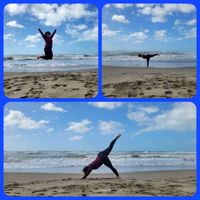
[[[132,41],[134,43],[142,43],[146,39],[148,39],[148,37],[149,37],[147,35],[148,32],[149,32],[149,30],[145,29],[144,31],[141,31],[141,32],[130,33],[130,34],[124,35],[121,38],[121,40],[123,40],[123,41]]]

